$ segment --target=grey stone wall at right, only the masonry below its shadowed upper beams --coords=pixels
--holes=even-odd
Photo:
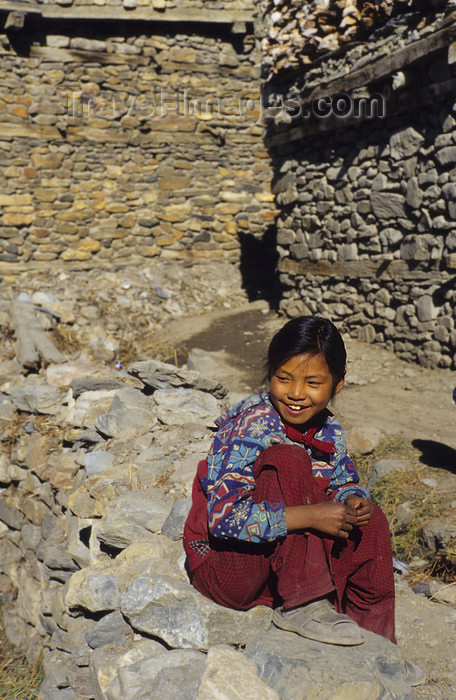
[[[387,120],[314,138],[282,160],[277,238],[289,315],[330,314],[360,340],[452,366],[456,122],[450,107],[444,115],[435,139],[435,124]]]

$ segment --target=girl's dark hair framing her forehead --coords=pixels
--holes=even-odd
[[[321,316],[299,316],[278,331],[268,348],[268,377],[295,355],[322,353],[333,378],[333,391],[345,376],[347,353],[334,323]]]

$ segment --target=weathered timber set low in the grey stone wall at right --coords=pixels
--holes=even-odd
[[[385,260],[381,263],[374,263],[370,260],[359,260],[355,262],[335,262],[328,260],[292,260],[282,258],[278,263],[279,272],[286,272],[291,275],[321,275],[322,277],[345,277],[350,279],[360,279],[363,277],[376,277],[378,279],[404,279],[404,280],[429,280],[436,281],[440,285],[450,278],[445,272],[410,270],[407,263],[402,260]]]

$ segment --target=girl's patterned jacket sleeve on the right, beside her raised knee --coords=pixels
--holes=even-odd
[[[359,476],[352,458],[347,452],[344,432],[335,418],[330,422],[331,441],[336,453],[334,455],[334,469],[328,486],[329,496],[335,500],[344,502],[347,496],[356,494],[370,498],[369,491],[359,486]]]

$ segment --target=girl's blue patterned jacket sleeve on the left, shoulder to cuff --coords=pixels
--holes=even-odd
[[[268,420],[241,414],[218,431],[208,455],[209,532],[222,539],[270,542],[286,535],[283,503],[254,503],[254,466],[268,446]]]

